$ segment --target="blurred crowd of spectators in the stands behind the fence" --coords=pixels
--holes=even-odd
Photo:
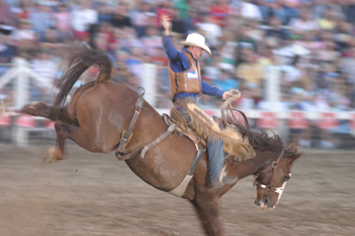
[[[0,63],[22,57],[53,84],[62,48],[80,41],[106,51],[115,77],[133,86],[144,80],[142,64],[157,64],[155,107],[169,108],[162,14],[172,19],[175,43],[192,32],[205,36],[212,57],[200,59],[203,79],[225,91],[240,89],[238,108],[268,108],[273,67],[279,111],[355,109],[355,0],[0,0]],[[31,99],[41,99],[48,84],[31,82]],[[219,104],[201,100],[202,107]]]

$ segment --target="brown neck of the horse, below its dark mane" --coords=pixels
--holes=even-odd
[[[256,157],[253,159],[247,159],[243,162],[234,161],[234,157],[232,162],[230,162],[232,166],[232,173],[237,180],[244,179],[247,176],[251,176],[261,171],[261,169],[265,169],[274,162],[276,159],[273,158],[274,155],[261,154],[257,152]]]

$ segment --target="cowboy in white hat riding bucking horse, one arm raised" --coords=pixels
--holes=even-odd
[[[207,94],[226,99],[232,95],[228,91],[223,91],[202,81],[200,64],[197,59],[202,55],[202,52],[211,55],[211,50],[204,44],[204,37],[198,33],[187,35],[186,40],[180,42],[180,45],[184,45],[184,47],[181,52],[178,52],[170,38],[169,16],[162,16],[160,23],[165,30],[163,45],[170,60],[170,96],[175,108],[191,127],[193,116],[188,111],[187,104],[195,103],[197,105],[197,96]],[[207,188],[219,189],[223,185],[221,178],[224,166],[223,145],[224,142],[219,137],[207,138]]]

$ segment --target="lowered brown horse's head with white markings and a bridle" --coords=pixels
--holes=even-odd
[[[294,152],[294,154],[285,157],[285,152],[282,151],[276,162],[254,175],[254,185],[256,185],[254,203],[256,206],[260,206],[263,210],[275,208],[280,201],[286,182],[291,178],[293,163],[303,154],[304,152],[297,154]]]

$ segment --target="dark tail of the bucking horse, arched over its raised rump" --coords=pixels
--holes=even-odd
[[[67,99],[72,86],[74,86],[82,73],[92,65],[99,67],[96,84],[107,82],[111,78],[113,67],[111,60],[105,52],[92,50],[89,46],[85,45],[71,45],[64,59],[67,61],[67,72],[65,72],[64,76],[58,82],[58,86],[61,87],[55,99],[55,107],[65,103],[65,99]]]

